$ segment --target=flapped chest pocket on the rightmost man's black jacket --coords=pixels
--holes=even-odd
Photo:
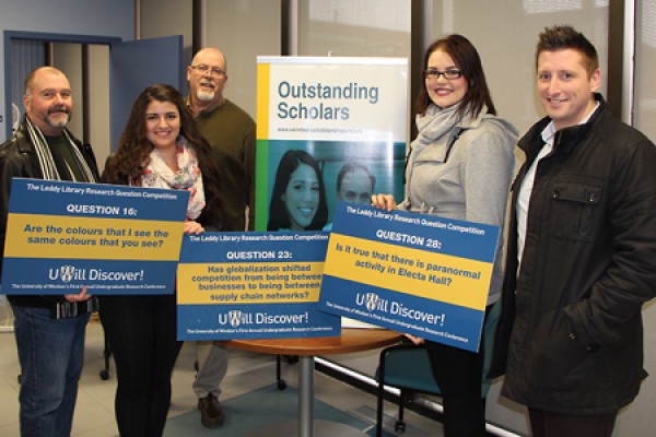
[[[595,216],[604,196],[597,179],[557,178],[551,189],[549,235],[590,241],[595,235]]]

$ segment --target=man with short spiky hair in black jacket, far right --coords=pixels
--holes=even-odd
[[[492,376],[532,435],[610,436],[646,377],[642,306],[656,295],[656,147],[610,115],[594,46],[540,34],[548,117],[519,141]]]

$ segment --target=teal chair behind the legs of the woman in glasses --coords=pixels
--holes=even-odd
[[[485,342],[484,364],[483,364],[483,385],[481,395],[488,395],[491,380],[487,378],[488,370],[492,361],[492,347],[494,346],[494,331],[501,311],[500,303],[492,305],[483,327],[483,341]],[[385,398],[385,386],[396,387],[400,390],[399,413],[394,425],[395,432],[403,433],[406,423],[403,422],[403,408],[408,402],[409,394],[429,393],[442,394],[440,386],[433,377],[431,362],[427,349],[424,345],[397,344],[380,351],[378,369],[376,370],[376,380],[378,381],[376,399],[376,437],[383,436],[383,401]]]

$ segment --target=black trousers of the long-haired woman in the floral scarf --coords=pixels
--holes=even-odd
[[[161,437],[171,406],[175,295],[102,296],[101,321],[116,363],[115,411],[121,437]]]

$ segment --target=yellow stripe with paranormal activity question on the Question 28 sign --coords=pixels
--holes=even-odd
[[[480,310],[492,264],[332,234],[324,273]]]

